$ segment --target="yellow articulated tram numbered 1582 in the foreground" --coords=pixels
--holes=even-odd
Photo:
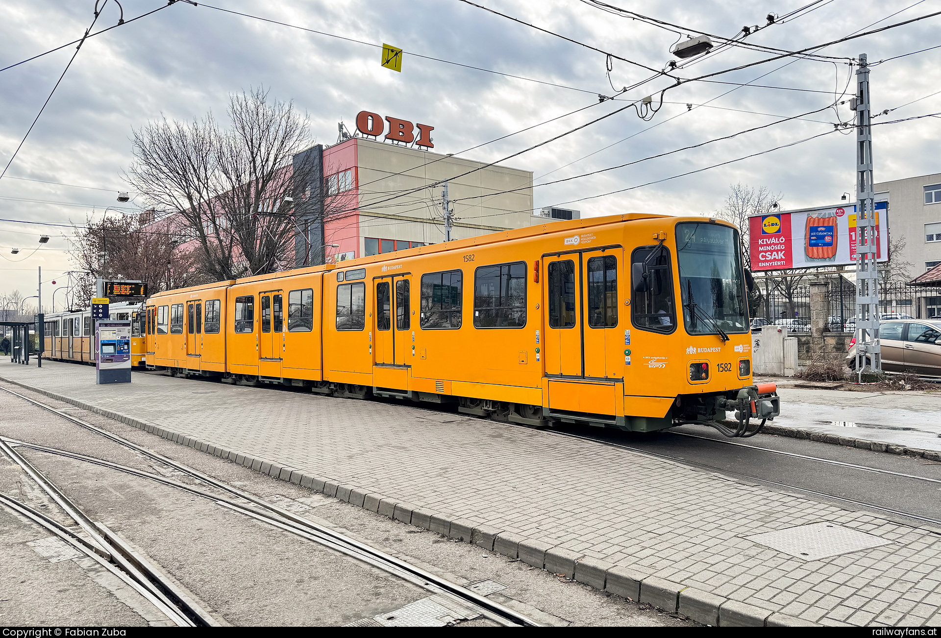
[[[531,425],[750,436],[779,409],[752,382],[738,231],[704,217],[557,221],[167,291],[144,332],[147,367],[173,375]]]

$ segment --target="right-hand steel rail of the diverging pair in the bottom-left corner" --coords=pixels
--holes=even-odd
[[[124,550],[120,545],[112,542],[110,534],[104,534],[98,525],[94,523],[81,508],[76,505],[66,494],[60,490],[52,481],[46,478],[38,468],[24,458],[23,455],[16,452],[6,439],[0,437],[0,451],[8,455],[10,460],[19,465],[33,481],[40,486],[42,491],[46,492],[52,499],[65,510],[72,520],[78,523],[85,532],[91,536],[92,540],[107,550],[111,554],[111,561],[119,566],[124,572],[133,578],[140,585],[148,589],[152,595],[158,598],[168,609],[172,609],[176,614],[185,619],[183,627],[212,627],[218,626],[218,623],[210,617],[205,617],[202,610],[198,607],[193,608],[186,604],[186,601],[174,596],[175,587],[167,586],[166,579],[162,574],[151,571],[145,566],[140,565],[131,556],[124,555]],[[161,610],[164,611],[164,610]],[[172,618],[172,616],[170,616]],[[174,619],[174,622],[176,620]],[[178,623],[179,624],[179,623]]]

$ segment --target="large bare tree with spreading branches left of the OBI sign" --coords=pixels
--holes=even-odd
[[[212,115],[136,130],[127,171],[154,208],[199,240],[199,269],[212,280],[293,265],[295,217],[323,223],[328,209],[320,158],[302,153],[311,146],[308,118],[293,103],[257,88],[232,94],[228,115],[228,130]]]

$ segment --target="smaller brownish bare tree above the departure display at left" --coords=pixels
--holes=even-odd
[[[95,292],[95,279],[139,279],[152,293],[199,283],[194,257],[176,247],[173,233],[144,230],[147,215],[105,215],[98,221],[88,216],[84,226],[74,227],[72,262],[80,271],[72,285],[73,308],[88,308]]]

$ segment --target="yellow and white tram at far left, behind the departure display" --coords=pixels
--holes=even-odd
[[[134,368],[142,368],[146,363],[143,333],[146,315],[143,304],[139,301],[122,301],[110,304],[109,312],[114,319],[131,320],[131,365]],[[43,359],[94,363],[94,332],[90,310],[46,314],[43,326]]]

